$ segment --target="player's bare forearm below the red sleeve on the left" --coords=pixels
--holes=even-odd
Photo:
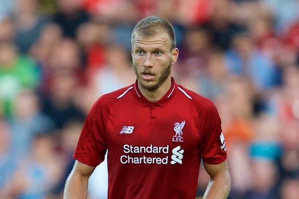
[[[88,179],[95,167],[76,160],[74,168],[66,180],[63,199],[87,199]]]

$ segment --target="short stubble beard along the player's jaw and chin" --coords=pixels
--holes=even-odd
[[[171,62],[168,63],[167,67],[165,68],[164,71],[162,71],[161,75],[158,77],[158,80],[155,84],[150,84],[150,85],[147,85],[147,84],[144,84],[144,82],[141,80],[140,76],[142,75],[142,73],[138,72],[137,71],[137,67],[136,65],[133,63],[133,68],[134,68],[134,72],[135,72],[135,75],[137,77],[137,80],[138,80],[138,83],[139,85],[145,89],[145,90],[148,90],[148,91],[155,91],[157,90],[164,82],[165,80],[169,77],[170,75],[170,72],[171,72]]]

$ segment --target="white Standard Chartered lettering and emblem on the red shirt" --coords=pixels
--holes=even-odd
[[[122,164],[168,164],[169,145],[166,146],[133,146],[125,144]],[[172,149],[171,164],[182,164],[184,150],[177,146]],[[142,155],[141,155],[142,154]]]

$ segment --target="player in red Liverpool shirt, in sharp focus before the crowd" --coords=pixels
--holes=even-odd
[[[64,199],[86,199],[88,178],[107,149],[109,199],[194,199],[201,159],[211,177],[204,199],[226,199],[230,175],[220,117],[210,100],[170,76],[178,58],[172,25],[144,18],[131,40],[137,81],[91,108]]]

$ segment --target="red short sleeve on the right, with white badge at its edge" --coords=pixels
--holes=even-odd
[[[203,124],[201,158],[208,164],[220,164],[226,160],[225,139],[221,129],[221,119],[215,105],[210,102]]]

